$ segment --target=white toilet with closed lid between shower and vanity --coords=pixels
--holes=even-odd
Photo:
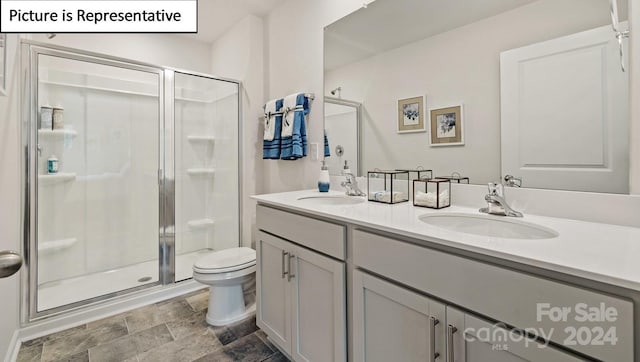
[[[231,248],[213,251],[193,265],[193,279],[209,285],[207,323],[223,326],[237,322],[255,312],[255,303],[245,307],[242,284],[256,271],[256,251]]]

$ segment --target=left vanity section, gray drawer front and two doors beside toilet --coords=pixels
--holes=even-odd
[[[322,232],[293,239],[300,243],[289,241],[296,224],[286,229],[274,227],[289,215],[296,216],[258,207],[256,323],[294,361],[345,361],[345,263],[304,246],[309,237],[322,237]],[[317,222],[329,234],[342,228],[306,221]],[[287,239],[274,233],[285,234]],[[344,231],[335,235],[342,237]]]

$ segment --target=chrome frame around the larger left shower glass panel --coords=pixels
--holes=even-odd
[[[168,243],[166,232],[167,220],[164,217],[166,212],[163,205],[165,199],[165,190],[163,188],[163,174],[165,154],[163,153],[163,142],[165,132],[165,94],[164,94],[164,69],[153,65],[137,63],[127,59],[104,56],[91,52],[80,51],[76,49],[68,49],[64,47],[51,46],[37,42],[22,40],[21,42],[21,96],[22,96],[22,114],[21,114],[21,165],[24,171],[22,177],[22,226],[23,226],[23,248],[25,257],[25,266],[22,273],[22,322],[29,323],[37,321],[62,312],[95,305],[96,303],[128,295],[132,292],[159,286],[162,283],[171,283],[162,278],[159,272],[159,280],[153,283],[147,283],[141,286],[113,292],[87,300],[78,301],[72,304],[48,309],[46,311],[37,310],[37,290],[38,290],[38,171],[37,171],[37,122],[38,122],[38,56],[48,55],[60,57],[64,59],[89,62],[100,65],[114,66],[134,71],[142,71],[146,73],[156,74],[158,76],[158,183],[159,187],[159,241],[160,251],[159,260],[162,261],[163,252],[170,250],[165,243]],[[173,265],[170,265],[173,267]],[[159,269],[161,270],[161,269]]]

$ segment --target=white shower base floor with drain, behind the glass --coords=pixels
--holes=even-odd
[[[182,255],[176,255],[176,281],[191,278],[193,263],[204,249]],[[87,274],[75,278],[48,282],[38,286],[38,311],[45,311],[63,305],[111,294],[137,286],[158,281],[158,260],[129,265],[99,273]],[[150,277],[142,282],[141,278]]]

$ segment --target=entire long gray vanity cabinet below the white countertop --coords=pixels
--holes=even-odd
[[[346,360],[347,319],[357,362],[637,360],[627,298],[275,207],[256,224],[257,324],[295,361]]]

